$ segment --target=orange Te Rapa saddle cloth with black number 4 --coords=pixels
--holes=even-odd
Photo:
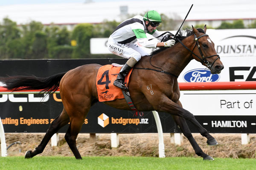
[[[140,116],[143,116],[143,112],[140,112],[135,108],[129,92],[125,92],[121,88],[113,85],[113,82],[116,80],[117,74],[121,69],[121,67],[115,67],[113,65],[103,65],[98,70],[96,77],[96,88],[99,102],[109,102],[115,99],[125,99],[131,110],[135,111],[134,116],[138,116],[138,113]],[[133,69],[131,69],[131,71],[125,77],[126,87],[128,87],[132,70]]]

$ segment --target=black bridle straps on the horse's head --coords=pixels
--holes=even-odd
[[[211,69],[211,68],[212,68],[212,65],[215,63],[215,61],[216,61],[218,58],[220,58],[220,56],[219,56],[218,54],[215,54],[215,55],[212,55],[212,56],[204,57],[204,54],[203,54],[203,52],[202,52],[202,50],[201,50],[201,48],[200,48],[200,45],[199,45],[198,40],[199,40],[201,37],[208,36],[208,35],[207,35],[207,34],[204,34],[204,35],[201,35],[201,36],[197,37],[197,36],[194,34],[194,36],[195,36],[195,46],[197,45],[198,51],[199,51],[199,53],[201,54],[201,57],[202,57],[202,58],[201,58],[201,57],[198,57],[198,55],[196,55],[196,54],[193,52],[194,49],[195,49],[195,46],[194,46],[194,48],[193,48],[192,51],[191,51],[189,48],[186,47],[186,45],[184,45],[184,44],[180,41],[180,39],[177,38],[177,40],[180,42],[181,45],[183,45],[183,47],[185,47],[187,50],[189,50],[189,51],[192,53],[191,55],[194,54],[196,57],[198,57],[198,59],[201,60],[201,63],[202,63],[202,64],[207,65],[207,68]],[[207,58],[213,57],[213,56],[217,56],[217,58],[212,62],[212,64],[210,64],[209,61],[207,61]]]

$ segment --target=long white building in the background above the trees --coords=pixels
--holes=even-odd
[[[104,20],[121,22],[128,15],[143,14],[156,10],[174,20],[183,20],[190,6],[194,4],[186,25],[207,24],[217,27],[222,21],[233,22],[242,19],[248,25],[256,20],[256,1],[254,0],[127,0],[98,2],[86,0],[85,3],[21,4],[0,6],[0,21],[4,17],[17,24],[32,20],[49,25],[55,23],[72,29],[78,23],[102,23]]]

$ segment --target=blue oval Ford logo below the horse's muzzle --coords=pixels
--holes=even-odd
[[[218,74],[211,74],[211,71],[201,68],[186,72],[183,79],[186,82],[217,82],[220,76]]]

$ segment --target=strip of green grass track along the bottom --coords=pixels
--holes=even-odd
[[[256,159],[174,157],[0,157],[0,170],[255,170]]]

